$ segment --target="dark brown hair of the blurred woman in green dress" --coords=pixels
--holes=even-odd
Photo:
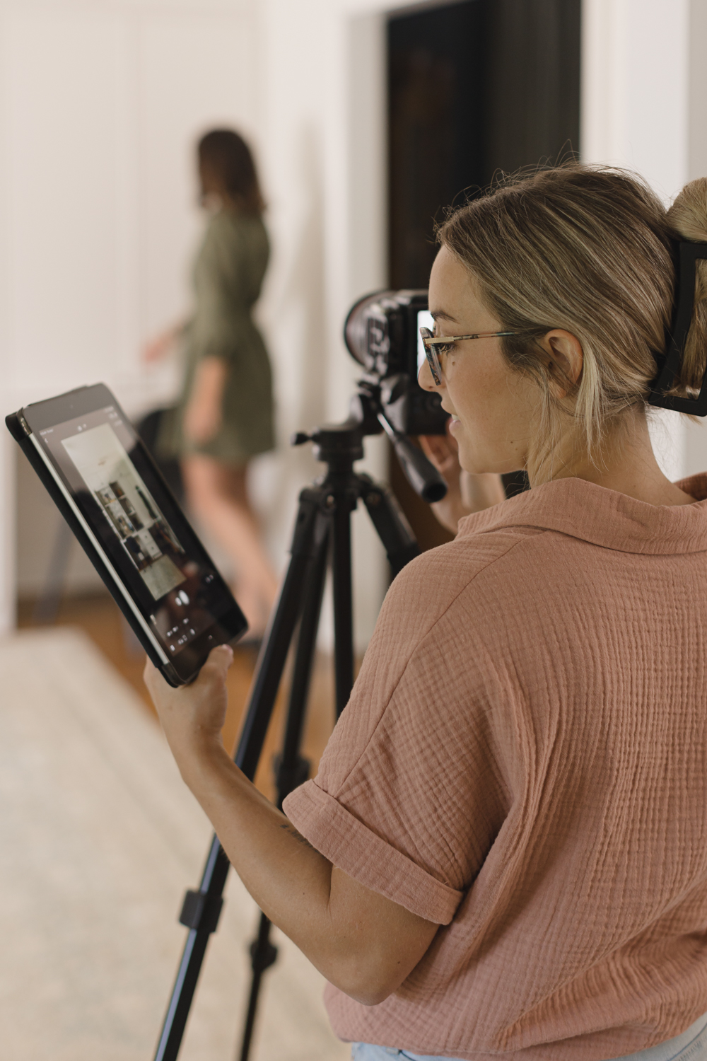
[[[265,209],[250,147],[233,129],[211,129],[197,147],[202,197],[220,195],[244,213]]]

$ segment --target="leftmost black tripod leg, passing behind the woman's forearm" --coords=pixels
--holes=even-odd
[[[280,599],[258,658],[246,719],[234,755],[250,780],[255,775],[263,742],[272,714],[289,644],[300,613],[307,569],[318,553],[319,537],[325,533],[321,514],[321,492],[303,490],[293,534],[291,559]],[[319,520],[317,517],[319,516]],[[196,981],[209,936],[215,930],[223,904],[229,862],[216,836],[213,837],[198,891],[188,891],[180,922],[190,929],[170,998],[155,1061],[176,1061],[189,1016]]]

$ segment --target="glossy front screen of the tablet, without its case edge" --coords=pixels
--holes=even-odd
[[[92,390],[103,392],[96,397],[112,397],[102,386],[75,394]],[[195,649],[206,631],[229,612],[235,609],[240,615],[233,597],[145,459],[120,406],[109,402],[46,424],[47,416],[35,411],[51,404],[28,406],[24,417],[29,425],[167,658],[175,665],[191,666],[193,661],[179,657],[184,653],[192,656],[190,648]],[[238,629],[229,637],[241,632],[244,625],[241,616]],[[222,636],[217,640],[227,639]]]

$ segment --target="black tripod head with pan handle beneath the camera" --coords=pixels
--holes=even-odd
[[[382,400],[382,387],[381,382],[359,380],[349,416],[342,423],[325,423],[308,434],[298,431],[291,437],[293,446],[314,442],[317,460],[329,465],[331,473],[347,474],[354,460],[363,459],[365,436],[385,431],[416,493],[428,503],[441,501],[447,492],[446,483],[422,450],[390,422]]]

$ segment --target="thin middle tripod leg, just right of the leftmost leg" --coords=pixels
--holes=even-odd
[[[297,639],[297,656],[295,658],[289,706],[287,708],[287,721],[285,724],[285,737],[282,755],[277,761],[278,806],[280,808],[282,808],[282,804],[290,792],[306,781],[310,772],[307,760],[302,759],[300,755],[300,744],[312,677],[314,650],[317,643],[321,599],[324,592],[328,552],[329,537],[325,536],[318,546],[317,556],[312,564],[302,607],[302,619],[300,620],[300,629]],[[270,921],[264,914],[261,914],[258,938],[250,944],[253,975],[241,1044],[241,1061],[247,1061],[250,1053],[250,1041],[255,1024],[258,997],[263,973],[266,969],[270,968],[278,956],[277,947],[270,943],[269,934]]]

